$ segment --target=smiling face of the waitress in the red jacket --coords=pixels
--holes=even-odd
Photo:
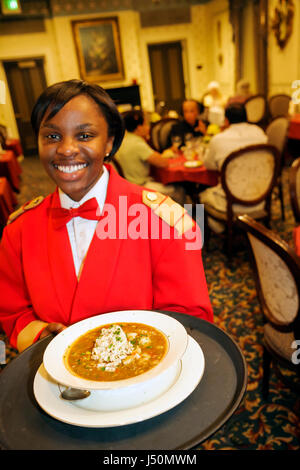
[[[102,175],[113,137],[99,106],[86,95],[72,98],[53,118],[48,115],[39,129],[40,159],[57,186],[80,201]]]

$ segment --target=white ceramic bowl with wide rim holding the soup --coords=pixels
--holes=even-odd
[[[157,366],[136,377],[111,382],[87,380],[67,369],[64,354],[79,336],[102,325],[121,322],[150,325],[166,336],[168,350]],[[58,384],[91,391],[88,398],[74,404],[87,409],[115,411],[139,406],[165,393],[180,373],[180,359],[187,343],[184,326],[168,315],[147,310],[112,312],[87,318],[63,330],[47,346],[43,363]]]

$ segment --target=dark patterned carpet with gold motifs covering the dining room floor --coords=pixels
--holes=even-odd
[[[47,195],[53,185],[41,169],[37,158],[22,162],[22,189],[19,204],[38,195]],[[290,208],[284,172],[286,220],[281,220],[279,201],[272,203],[272,229],[292,244],[295,225]],[[210,250],[204,253],[204,265],[215,323],[228,332],[241,347],[248,365],[248,386],[239,409],[213,437],[199,449],[205,450],[299,450],[300,397],[281,381],[273,371],[270,393],[262,398],[262,334],[263,319],[256,297],[248,252],[243,243],[228,262],[222,251],[222,236],[212,236]],[[5,339],[0,334],[0,339]],[[7,361],[16,356],[7,344]]]

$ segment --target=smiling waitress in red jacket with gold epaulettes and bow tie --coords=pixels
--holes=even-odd
[[[12,214],[3,232],[0,326],[11,345],[22,351],[116,310],[173,310],[212,321],[201,244],[193,243],[199,227],[170,198],[104,163],[124,134],[106,92],[80,80],[52,85],[37,100],[32,124],[57,189]]]

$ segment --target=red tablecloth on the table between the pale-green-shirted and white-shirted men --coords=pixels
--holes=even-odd
[[[167,168],[153,167],[152,175],[156,181],[163,184],[190,181],[215,186],[218,183],[218,171],[207,170],[203,165],[196,168],[186,168],[185,161],[184,157],[170,158]]]

